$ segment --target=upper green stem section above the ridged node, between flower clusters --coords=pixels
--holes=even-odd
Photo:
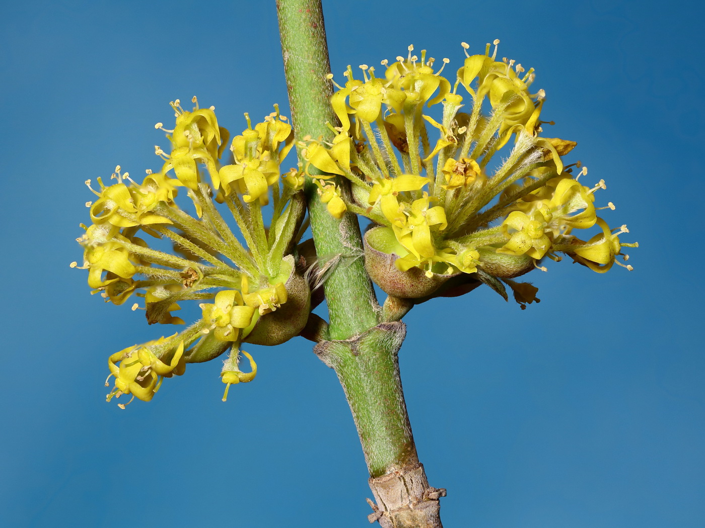
[[[297,138],[323,137],[333,132],[326,121],[335,122],[330,104],[333,84],[320,0],[279,0],[279,30],[284,72],[289,92],[291,118]],[[377,324],[376,298],[362,262],[362,237],[357,218],[346,214],[336,220],[326,210],[317,187],[307,182],[311,229],[319,258],[341,256],[341,265],[326,280],[326,302],[331,337],[347,339]]]

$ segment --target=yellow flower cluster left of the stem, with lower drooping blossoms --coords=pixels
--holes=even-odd
[[[155,147],[164,161],[159,172],[147,170],[139,183],[118,166],[111,185],[98,178],[93,189],[87,181],[97,199],[86,204],[92,224],[82,225],[78,241],[92,293],[114,304],[133,294],[143,298],[150,325],[183,325],[172,315],[183,301],[200,301],[202,310],[182,332],[110,356],[115,382],[109,401],[123,394],[149,401],[165,377],[229,349],[221,373],[227,396],[231,384],[249,382],[257,372],[245,351],[251,372],[238,367],[241,343],[282,343],[308,317],[309,288],[292,255],[305,215],[303,177],[292,170],[280,182],[279,165],[293,146],[291,126],[276,106],[255,127],[245,114],[247,129],[233,137],[223,159],[228,130],[214,108],[192,101],[190,112],[178,100],[171,103],[173,130],[156,125],[171,142],[168,153]],[[180,205],[177,196],[184,192],[190,200]],[[264,209],[270,197],[271,208]],[[267,226],[263,213],[270,210]],[[147,240],[153,239],[171,241],[175,252],[151,247]]]

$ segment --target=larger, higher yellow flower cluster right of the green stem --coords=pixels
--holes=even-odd
[[[484,54],[470,56],[462,43],[466,58],[453,80],[441,75],[447,58],[434,71],[434,59],[425,50],[420,58],[413,55],[413,46],[407,57],[381,62],[383,77],[361,65],[362,78],[355,79],[348,66],[345,85],[336,84],[331,97],[341,123],[331,127],[332,142],[307,144],[309,165],[329,175],[317,178],[339,175],[351,184],[353,199],[345,201],[343,194],[336,210],[352,210],[377,225],[365,237],[367,262],[381,262],[375,252],[383,253],[393,256],[397,275],[415,284],[425,280],[419,272],[429,279],[427,287],[400,291],[403,278],[367,265],[390,295],[421,298],[439,288],[439,277],[475,274],[501,293],[502,279],[520,301],[527,289],[511,279],[545,270],[539,266],[544,257],[560,260],[558,253],[565,253],[605,272],[623,265],[617,256],[627,260],[624,246],[637,246],[618,239],[625,226],[611,230],[596,215],[614,208],[594,206],[603,180],[585,187],[579,178],[587,168],[563,164],[575,142],[541,136],[545,93],[530,89],[534,70],[498,60],[494,44],[492,54],[487,44]],[[467,112],[461,111],[464,99],[470,101]],[[436,120],[427,109],[438,103],[443,111]],[[483,106],[491,108],[489,115]],[[595,225],[601,232],[587,241],[573,234]]]

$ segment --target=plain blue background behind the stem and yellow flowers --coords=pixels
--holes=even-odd
[[[577,141],[627,223],[633,272],[570,259],[530,279],[527,310],[489,289],[405,318],[400,353],[419,456],[448,527],[696,528],[705,519],[701,7],[685,1],[324,1],[336,77],[408,44],[460,42],[537,70],[542,118]],[[694,11],[693,11],[694,10]],[[0,20],[0,524],[367,526],[353,420],[301,338],[251,346],[255,382],[221,402],[219,362],[152,402],[106,403],[110,353],[159,337],[90,296],[83,182],[158,168],[168,101],[286,106],[274,1],[25,1]],[[572,154],[571,154],[572,155]]]

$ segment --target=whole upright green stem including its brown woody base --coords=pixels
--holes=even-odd
[[[295,136],[331,141],[326,122],[336,116],[325,77],[330,65],[321,0],[278,0],[276,6]],[[318,325],[321,331],[314,328],[309,337],[325,339],[314,351],[336,370],[353,412],[377,501],[369,519],[385,528],[441,527],[438,498],[445,491],[428,486],[419,464],[399,376],[405,326],[378,325],[381,309],[364,270],[357,217],[335,220],[311,181],[305,191],[318,257],[341,262],[324,284],[329,327],[324,332]]]

